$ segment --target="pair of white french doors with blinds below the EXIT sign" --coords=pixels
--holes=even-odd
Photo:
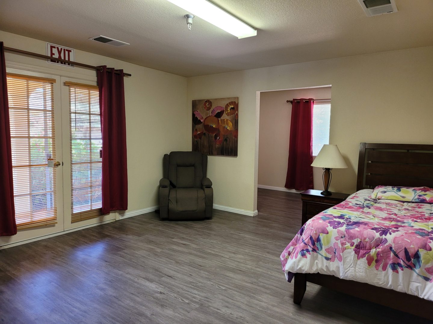
[[[101,213],[96,82],[7,71],[18,233],[0,246],[115,219]]]

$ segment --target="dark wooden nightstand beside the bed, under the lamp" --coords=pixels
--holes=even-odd
[[[302,200],[302,224],[304,225],[308,219],[316,216],[332,206],[335,206],[349,197],[349,194],[333,192],[330,196],[320,194],[320,190],[309,189],[301,192]]]

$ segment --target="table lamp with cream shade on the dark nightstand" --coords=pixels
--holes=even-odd
[[[324,144],[316,159],[314,159],[311,166],[317,168],[323,168],[323,187],[324,190],[320,193],[324,196],[330,196],[332,192],[329,191],[329,185],[331,184],[331,170],[332,169],[344,169],[347,168],[346,162],[344,162],[343,156],[335,144]]]

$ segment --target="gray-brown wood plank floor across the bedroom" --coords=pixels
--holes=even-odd
[[[310,283],[294,305],[279,256],[300,195],[259,189],[258,210],[148,213],[0,250],[0,323],[427,323]]]

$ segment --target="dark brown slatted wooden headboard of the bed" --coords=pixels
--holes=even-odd
[[[433,145],[361,143],[356,190],[433,187]]]

